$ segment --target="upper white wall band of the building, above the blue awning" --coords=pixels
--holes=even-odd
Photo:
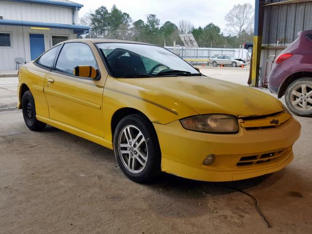
[[[72,8],[58,6],[0,1],[0,16],[4,20],[74,24],[73,11]]]

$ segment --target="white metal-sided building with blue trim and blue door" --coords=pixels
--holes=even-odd
[[[89,30],[78,25],[83,5],[68,0],[0,0],[0,70],[31,61],[53,45]]]

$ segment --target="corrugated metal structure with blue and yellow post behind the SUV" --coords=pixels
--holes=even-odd
[[[255,0],[252,85],[265,85],[274,57],[309,29],[312,0]]]

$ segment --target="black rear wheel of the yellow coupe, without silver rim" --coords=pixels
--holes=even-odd
[[[29,90],[26,91],[23,95],[23,98],[21,100],[21,108],[24,121],[30,130],[40,131],[44,129],[46,124],[40,122],[36,118],[35,99]]]

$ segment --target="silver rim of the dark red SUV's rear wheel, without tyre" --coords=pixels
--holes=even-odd
[[[307,84],[296,86],[291,93],[291,102],[297,110],[312,110],[312,86]]]

